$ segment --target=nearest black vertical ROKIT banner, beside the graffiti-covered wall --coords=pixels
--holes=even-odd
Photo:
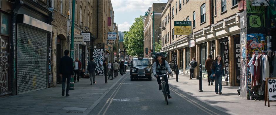
[[[240,35],[234,36],[235,46],[235,81],[240,86]]]

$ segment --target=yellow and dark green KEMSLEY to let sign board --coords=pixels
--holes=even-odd
[[[192,21],[174,21],[174,35],[191,35]]]

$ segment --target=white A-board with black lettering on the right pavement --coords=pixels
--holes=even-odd
[[[265,105],[270,101],[276,101],[276,78],[266,78],[265,82]]]

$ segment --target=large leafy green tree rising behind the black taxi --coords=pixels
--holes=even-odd
[[[143,56],[143,30],[143,16],[140,16],[135,18],[135,21],[130,26],[129,31],[124,31],[124,46],[126,47],[127,54],[130,56]]]

